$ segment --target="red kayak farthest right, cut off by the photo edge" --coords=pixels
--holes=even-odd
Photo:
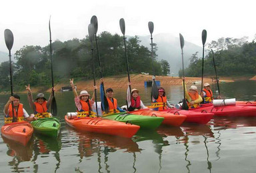
[[[256,116],[256,106],[201,106],[190,109],[195,112],[211,112],[215,116]]]

